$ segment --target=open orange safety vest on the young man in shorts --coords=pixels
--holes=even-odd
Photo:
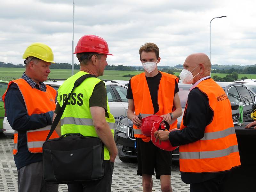
[[[156,115],[164,115],[171,113],[175,110],[173,106],[174,94],[175,94],[175,84],[179,83],[179,78],[164,72],[160,72],[162,77],[160,79],[160,84],[157,91],[157,103],[159,106],[159,111]],[[154,107],[151,100],[148,83],[146,80],[145,73],[133,76],[131,78],[131,88],[134,101],[135,115],[142,114],[142,117],[150,116],[154,114]],[[177,128],[177,119],[170,125],[170,129]],[[150,137],[146,137],[141,134],[140,129],[133,125],[134,136],[137,138],[142,138],[143,141],[149,142]]]

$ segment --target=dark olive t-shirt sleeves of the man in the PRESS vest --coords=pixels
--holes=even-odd
[[[95,85],[92,96],[89,100],[89,107],[102,107],[105,109],[105,117],[108,116],[108,106],[107,106],[107,92],[103,81],[100,81]],[[54,113],[58,114],[60,111],[60,104],[57,103]]]

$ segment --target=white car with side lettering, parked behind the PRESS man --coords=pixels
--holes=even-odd
[[[53,80],[53,81],[45,81],[44,83],[50,85],[55,90],[58,90],[60,85],[63,84],[64,80]],[[120,119],[127,116],[128,110],[128,99],[126,99],[127,86],[119,83],[113,83],[114,81],[103,81],[106,84],[107,97],[108,97],[108,105],[110,108],[110,113],[114,116],[116,123],[114,129],[116,129],[116,125]],[[13,136],[14,130],[10,126],[6,117],[4,117],[3,121],[3,130],[4,134],[7,136]]]

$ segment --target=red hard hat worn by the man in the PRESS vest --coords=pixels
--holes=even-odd
[[[74,54],[82,52],[112,55],[109,53],[107,42],[96,35],[84,35],[79,39]]]

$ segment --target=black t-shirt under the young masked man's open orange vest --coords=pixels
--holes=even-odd
[[[146,76],[146,80],[147,80],[147,83],[148,83],[148,89],[149,89],[152,104],[153,104],[153,107],[154,107],[154,114],[157,113],[157,111],[159,111],[159,106],[158,106],[158,102],[157,102],[157,93],[158,93],[157,90],[158,90],[158,87],[159,87],[159,84],[160,84],[161,77],[162,77],[162,74],[160,72],[158,72],[158,74],[156,76],[153,76],[153,77],[147,77]],[[175,93],[177,93],[177,92],[179,92],[179,87],[178,87],[178,84],[176,82]],[[128,84],[126,98],[127,99],[133,99],[132,88],[131,88],[131,80],[129,81],[129,84]]]

